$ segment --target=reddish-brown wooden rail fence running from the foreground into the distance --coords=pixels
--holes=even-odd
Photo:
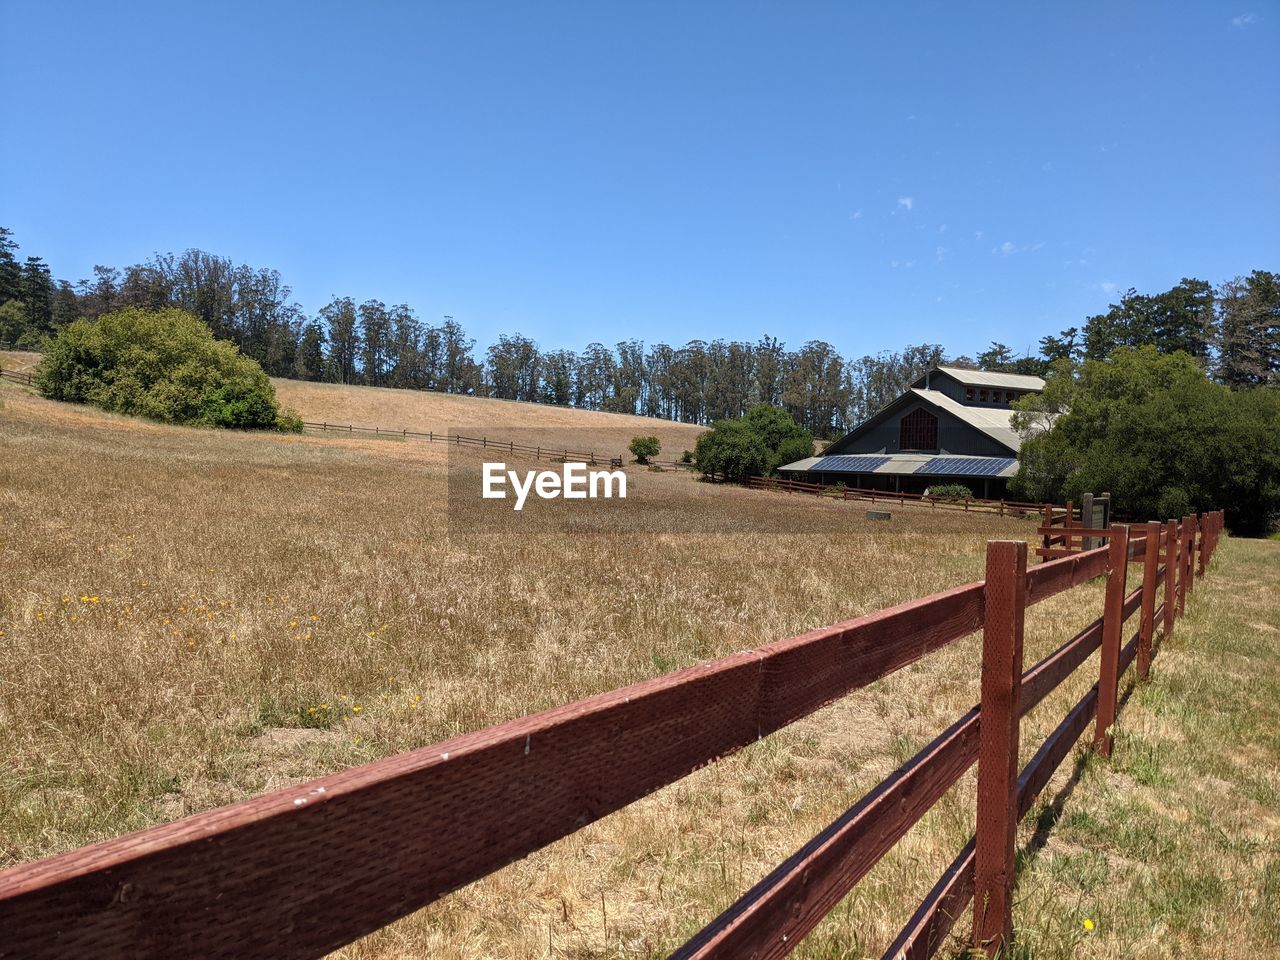
[[[974,897],[973,938],[995,952],[1016,820],[1094,717],[1110,753],[1119,680],[1134,660],[1147,675],[1221,529],[1221,513],[1148,524],[1130,552],[1114,527],[1032,568],[1025,543],[995,541],[982,582],[14,867],[0,956],[321,956],[977,630],[980,703],[673,956],[787,955],[975,762],[975,837],[884,956],[931,956]],[[1024,671],[1025,609],[1102,575],[1102,616]],[[1098,648],[1098,681],[1018,773],[1019,718]]]

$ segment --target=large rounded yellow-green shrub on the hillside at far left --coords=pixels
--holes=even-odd
[[[49,340],[36,387],[51,399],[92,403],[165,424],[301,430],[275,389],[236,344],[214,339],[180,310],[122,310],[76,320]]]

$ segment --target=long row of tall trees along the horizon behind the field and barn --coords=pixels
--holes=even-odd
[[[236,343],[273,376],[439,390],[639,413],[692,424],[736,419],[764,403],[819,438],[840,435],[940,362],[1044,374],[1059,360],[1102,358],[1119,347],[1185,351],[1231,388],[1280,380],[1280,278],[1256,270],[1217,288],[1184,279],[1171,291],[1126,292],[1106,314],[1041,340],[1018,357],[992,343],[977,357],[940,344],[846,358],[824,340],[788,348],[692,339],[684,346],[628,339],[580,351],[543,349],[502,335],[484,351],[445,316],[421,320],[407,303],[334,297],[315,315],[293,301],[280,274],[200,250],[156,255],[124,269],[95,266],[78,283],[55,280],[40,257],[19,260],[0,228],[0,343],[38,348],[78,317],[177,307]]]

